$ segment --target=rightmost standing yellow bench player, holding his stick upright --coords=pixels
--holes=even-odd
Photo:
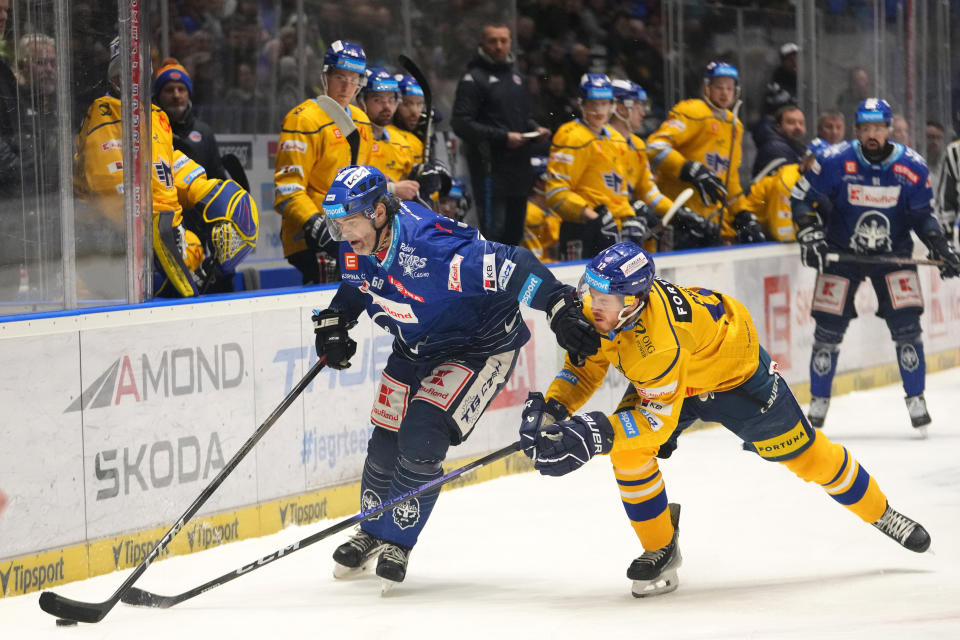
[[[703,218],[720,225],[726,241],[734,238],[732,211],[739,211],[743,124],[730,107],[739,96],[739,74],[725,62],[711,62],[703,77],[703,96],[682,100],[647,138],[647,155],[660,190],[669,198],[688,186],[699,199],[687,204]],[[680,222],[680,221],[678,221]],[[684,238],[676,234],[676,248],[719,244],[720,238]]]

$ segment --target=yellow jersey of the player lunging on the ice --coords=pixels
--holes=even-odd
[[[640,401],[609,416],[612,451],[644,449],[651,456],[677,428],[685,398],[739,386],[756,371],[760,348],[750,313],[740,302],[660,279],[637,321],[601,343],[582,367],[566,358],[547,398],[576,412],[613,364]]]

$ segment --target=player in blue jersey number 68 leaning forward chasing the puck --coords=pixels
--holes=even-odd
[[[443,474],[447,449],[470,435],[530,337],[521,303],[547,313],[572,358],[582,362],[600,347],[574,288],[532,253],[397,200],[374,167],[341,170],[323,210],[341,241],[343,281],[330,307],[313,316],[317,355],[329,367],[350,366],[357,345],[348,331],[364,309],[394,336],[370,417],[363,509]],[[347,577],[376,559],[384,589],[403,581],[438,494],[364,521],[334,552],[334,575]]]

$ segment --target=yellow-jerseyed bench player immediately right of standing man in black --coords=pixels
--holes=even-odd
[[[560,252],[577,259],[568,244],[582,244],[583,256],[617,242],[623,221],[634,216],[624,178],[627,141],[607,124],[613,88],[602,73],[580,80],[582,117],[553,135],[547,167],[547,204],[563,219]]]

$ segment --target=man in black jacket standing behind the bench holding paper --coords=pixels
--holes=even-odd
[[[510,29],[488,24],[477,55],[457,85],[451,125],[464,141],[480,228],[488,240],[518,244],[533,186],[529,144],[550,130],[530,115],[514,70]]]

